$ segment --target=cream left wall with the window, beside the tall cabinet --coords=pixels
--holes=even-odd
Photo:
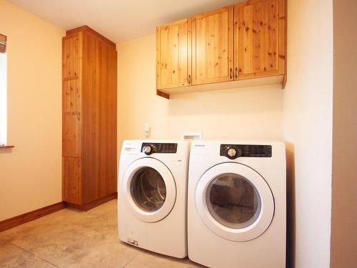
[[[61,202],[61,37],[65,31],[0,0],[7,36],[7,141],[0,221]]]

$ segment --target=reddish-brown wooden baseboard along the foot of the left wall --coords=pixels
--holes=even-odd
[[[56,204],[51,204],[47,207],[42,207],[41,209],[36,209],[32,212],[27,212],[19,216],[12,217],[10,219],[4,219],[4,221],[0,222],[0,232],[19,226],[26,222],[31,222],[34,219],[39,219],[41,217],[46,216],[47,214],[51,214],[61,209],[64,209],[65,207],[66,207],[65,202],[59,202]]]

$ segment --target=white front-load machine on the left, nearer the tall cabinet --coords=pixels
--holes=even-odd
[[[190,142],[124,141],[119,163],[121,241],[152,252],[187,256]]]

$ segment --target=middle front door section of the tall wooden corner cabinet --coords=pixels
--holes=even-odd
[[[81,157],[81,84],[80,79],[63,82],[62,154]]]

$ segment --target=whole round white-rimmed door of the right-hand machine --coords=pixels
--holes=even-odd
[[[229,162],[211,167],[199,179],[196,208],[204,224],[219,237],[244,242],[268,229],[274,200],[258,172]]]

